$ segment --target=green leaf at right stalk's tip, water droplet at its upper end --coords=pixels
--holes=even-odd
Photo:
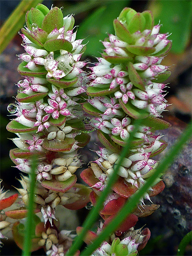
[[[121,19],[121,17],[119,17],[119,19]],[[118,19],[114,20],[113,26],[118,38],[129,44],[134,43],[134,38],[131,36],[131,33],[128,31],[125,25],[123,25]]]

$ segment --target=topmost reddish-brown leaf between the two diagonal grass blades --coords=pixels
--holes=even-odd
[[[130,183],[127,183],[124,178],[119,177],[112,188],[117,194],[124,198],[129,198],[137,191],[137,188]]]

